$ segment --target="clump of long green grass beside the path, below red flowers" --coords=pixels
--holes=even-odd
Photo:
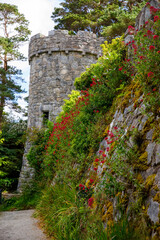
[[[106,239],[102,223],[77,197],[75,187],[63,182],[47,187],[37,207],[55,239]]]

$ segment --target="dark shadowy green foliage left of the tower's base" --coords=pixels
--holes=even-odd
[[[26,122],[6,120],[0,145],[0,188],[16,190],[24,151]]]

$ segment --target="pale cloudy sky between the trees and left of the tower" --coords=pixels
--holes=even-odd
[[[30,22],[29,29],[31,30],[31,36],[42,33],[48,35],[50,30],[54,28],[54,22],[51,19],[54,7],[58,7],[62,0],[0,0],[0,3],[8,3],[16,5],[20,13],[24,14],[25,18]],[[31,37],[30,36],[30,37]],[[26,57],[28,56],[28,44],[26,42],[21,46],[20,52]],[[27,61],[16,61],[12,65],[22,70],[22,77],[25,83],[22,83],[22,88],[27,92],[21,94],[22,99],[18,100],[20,106],[25,107],[26,103],[23,100],[24,97],[28,96],[29,89],[29,64]]]

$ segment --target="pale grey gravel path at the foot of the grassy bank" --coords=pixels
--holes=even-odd
[[[0,213],[0,240],[47,240],[32,217],[34,210]]]

